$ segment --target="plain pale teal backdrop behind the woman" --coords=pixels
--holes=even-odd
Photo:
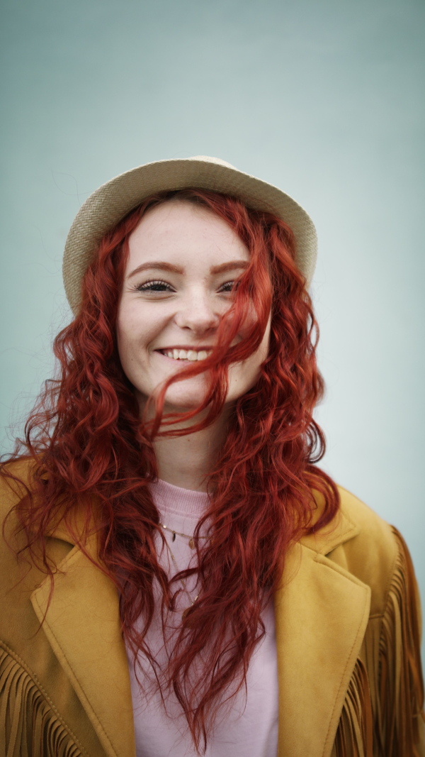
[[[222,157],[316,223],[324,466],[399,527],[424,595],[424,17],[423,0],[3,3],[2,427],[69,318],[81,202],[149,160]]]

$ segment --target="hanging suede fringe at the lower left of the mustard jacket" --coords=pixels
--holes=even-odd
[[[24,663],[0,647],[0,755],[85,757]]]

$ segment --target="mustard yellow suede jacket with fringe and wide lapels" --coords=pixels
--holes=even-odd
[[[275,596],[278,757],[425,755],[410,557],[340,494],[333,522],[288,553]],[[21,496],[1,482],[2,521]],[[0,549],[0,757],[135,757],[116,588],[60,527],[48,554],[60,569],[49,605],[45,575]]]

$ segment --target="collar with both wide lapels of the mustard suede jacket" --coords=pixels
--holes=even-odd
[[[370,589],[327,558],[358,534],[340,511],[287,553],[275,595],[278,757],[330,757],[368,622]],[[70,540],[63,525],[54,536]],[[96,538],[87,549],[95,559]],[[107,757],[135,757],[132,695],[112,581],[77,547],[33,592],[36,615]],[[48,609],[47,609],[48,608]]]

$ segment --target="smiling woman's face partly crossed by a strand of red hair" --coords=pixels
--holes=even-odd
[[[233,229],[204,207],[165,202],[141,219],[129,237],[116,323],[119,359],[141,406],[189,360],[209,353],[219,318],[231,306],[232,282],[249,259]],[[259,349],[229,367],[226,403],[234,403],[256,383],[269,335],[270,319]],[[192,410],[205,391],[202,373],[176,382],[167,390],[166,409]]]

